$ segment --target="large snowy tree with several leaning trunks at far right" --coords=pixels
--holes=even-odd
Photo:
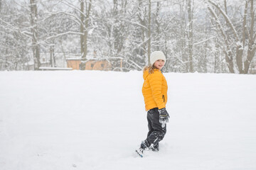
[[[213,0],[208,0],[207,3],[220,33],[220,47],[225,54],[229,71],[235,73],[238,70],[240,74],[247,74],[256,50],[254,1],[246,0],[241,7],[233,4],[237,7],[236,10],[232,9],[233,6],[228,6],[226,1],[224,7]],[[231,9],[227,10],[228,7]]]

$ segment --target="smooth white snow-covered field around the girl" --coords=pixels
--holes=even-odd
[[[0,72],[0,169],[255,170],[256,76],[164,75],[166,137],[140,158],[142,72]]]

